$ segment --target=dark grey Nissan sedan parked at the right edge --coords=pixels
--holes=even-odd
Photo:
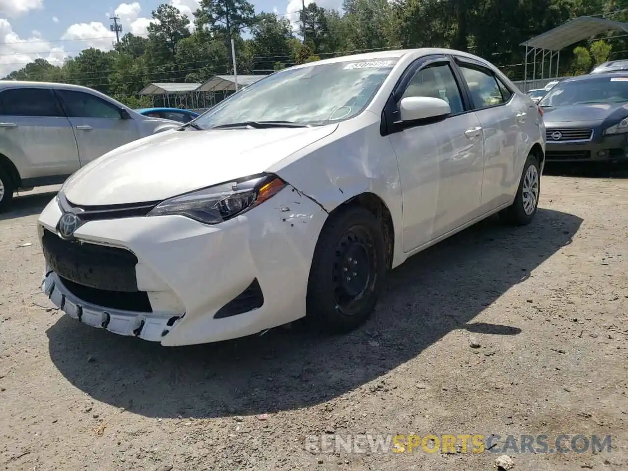
[[[628,161],[628,72],[567,78],[539,101],[549,161]]]

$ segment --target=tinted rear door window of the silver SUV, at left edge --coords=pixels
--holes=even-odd
[[[11,89],[0,94],[4,116],[62,116],[50,89]]]

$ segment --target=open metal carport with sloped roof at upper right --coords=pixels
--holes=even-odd
[[[521,43],[521,46],[526,46],[526,58],[524,63],[524,80],[523,87],[524,92],[528,91],[528,62],[529,57],[532,55],[532,81],[537,79],[536,77],[536,62],[537,56],[541,54],[541,80],[545,77],[545,62],[546,57],[549,54],[549,67],[548,77],[552,77],[552,60],[556,57],[556,75],[558,77],[558,65],[560,62],[560,51],[567,46],[570,46],[579,41],[592,38],[593,36],[600,35],[610,30],[625,31],[628,33],[628,23],[622,23],[621,21],[612,21],[610,19],[595,18],[593,16],[580,16],[579,18],[571,19],[566,23],[553,28],[553,30],[546,31],[545,33],[535,36],[528,41]]]

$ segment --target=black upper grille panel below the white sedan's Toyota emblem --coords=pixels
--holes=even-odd
[[[62,278],[98,290],[138,291],[138,257],[130,251],[68,241],[47,229],[43,231],[42,248],[50,268]]]

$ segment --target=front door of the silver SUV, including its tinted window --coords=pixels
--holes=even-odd
[[[122,119],[115,104],[88,92],[56,89],[55,93],[74,128],[80,165],[139,139],[137,123]]]

